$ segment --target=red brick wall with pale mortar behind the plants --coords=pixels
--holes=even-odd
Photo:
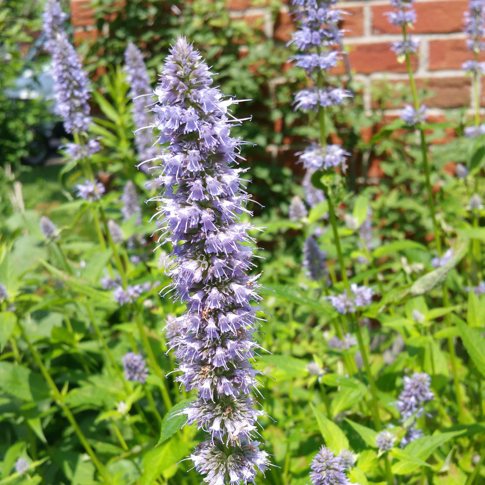
[[[90,0],[71,0],[72,23],[79,40],[96,35],[92,11],[86,8],[89,3]],[[232,16],[258,25],[266,35],[277,41],[287,42],[290,39],[294,26],[286,0],[282,1],[275,21],[265,9],[264,1],[259,1],[258,5],[262,6],[257,8],[253,7],[251,0],[227,0],[227,3]],[[400,30],[389,24],[384,15],[392,10],[388,0],[342,0],[339,6],[350,13],[342,25],[348,31],[344,45],[355,79],[364,85],[365,107],[372,109],[375,107],[373,86],[407,80],[405,65],[398,63],[396,55],[389,49],[392,41],[401,38]],[[471,106],[470,78],[461,70],[461,63],[471,58],[462,32],[468,1],[416,0],[415,8],[418,18],[410,32],[420,39],[420,49],[418,55],[413,56],[413,69],[418,86],[432,92],[425,102],[437,112],[443,108]],[[484,61],[485,56],[481,60]],[[343,72],[343,65],[336,72]],[[484,89],[480,92],[484,106]]]

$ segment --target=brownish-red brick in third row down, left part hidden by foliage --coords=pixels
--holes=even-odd
[[[373,81],[372,87],[378,87],[383,82],[388,84],[402,83],[403,81]],[[416,85],[418,89],[425,88],[429,91],[429,95],[422,99],[422,102],[428,107],[434,108],[460,108],[468,106],[470,103],[470,85],[469,77],[453,77],[453,78],[431,78],[431,79],[417,79]],[[404,102],[396,99],[393,103],[388,103],[385,108],[402,107]],[[372,99],[372,108],[378,108],[377,101]]]

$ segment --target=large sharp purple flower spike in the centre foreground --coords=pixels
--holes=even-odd
[[[246,484],[269,464],[253,439],[263,414],[251,397],[258,372],[250,363],[258,347],[251,302],[260,297],[258,276],[247,275],[251,226],[238,218],[250,212],[242,169],[233,167],[242,160],[242,141],[229,132],[239,123],[228,113],[235,101],[211,83],[199,52],[178,37],[155,90],[158,142],[168,143],[160,156],[164,192],[155,199],[165,224],[159,241],[173,244],[174,297],[187,305],[177,380],[197,397],[182,413],[209,435],[191,458],[210,485]]]

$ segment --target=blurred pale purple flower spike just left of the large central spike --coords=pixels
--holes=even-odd
[[[147,99],[153,95],[142,53],[132,42],[125,50],[125,72],[130,86],[129,96],[133,99],[131,111],[135,122],[135,143],[142,161],[156,157],[157,147],[153,145],[152,114],[146,109]],[[145,166],[145,165],[142,165]]]

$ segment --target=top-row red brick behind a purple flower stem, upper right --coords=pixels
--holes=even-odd
[[[466,0],[419,1],[414,4],[416,23],[408,32],[446,33],[462,32],[463,13],[468,10]],[[385,12],[393,9],[389,4],[372,6],[372,33],[400,33],[401,27],[389,23]]]

